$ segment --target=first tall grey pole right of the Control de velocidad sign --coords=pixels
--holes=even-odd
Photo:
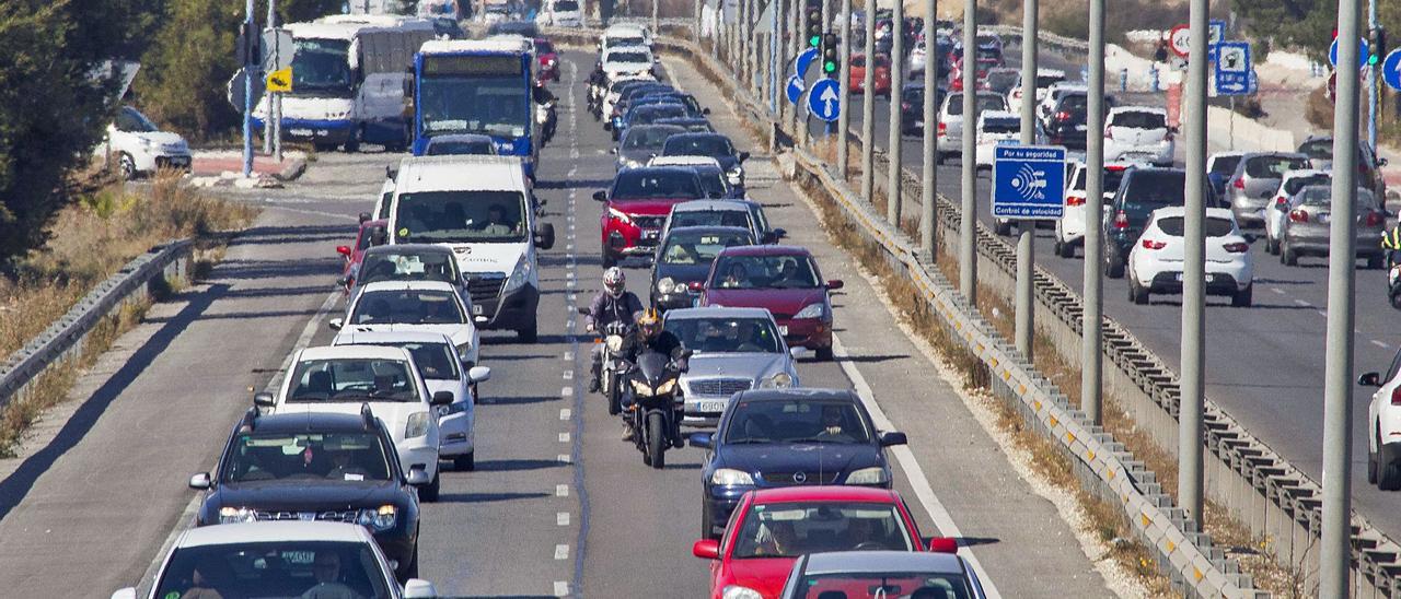
[[[1086,106],[1084,161],[1084,312],[1080,315],[1080,409],[1093,424],[1104,423],[1104,1],[1090,0],[1090,94]],[[1024,98],[1024,97],[1023,97]]]

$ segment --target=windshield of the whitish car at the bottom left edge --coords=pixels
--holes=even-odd
[[[151,596],[388,599],[389,584],[366,543],[221,543],[177,549]]]

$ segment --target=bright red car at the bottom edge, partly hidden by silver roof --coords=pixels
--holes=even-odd
[[[817,486],[747,493],[722,539],[698,540],[691,553],[710,560],[713,599],[776,599],[799,556],[925,547],[898,493]],[[927,547],[957,551],[953,539],[933,539]]]

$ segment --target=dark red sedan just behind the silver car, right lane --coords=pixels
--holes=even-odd
[[[768,308],[789,347],[807,347],[832,360],[832,301],[813,255],[787,245],[726,248],[716,256],[700,305]]]

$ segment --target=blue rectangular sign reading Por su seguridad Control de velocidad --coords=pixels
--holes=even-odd
[[[998,146],[992,161],[992,216],[1055,220],[1065,214],[1065,148]]]

